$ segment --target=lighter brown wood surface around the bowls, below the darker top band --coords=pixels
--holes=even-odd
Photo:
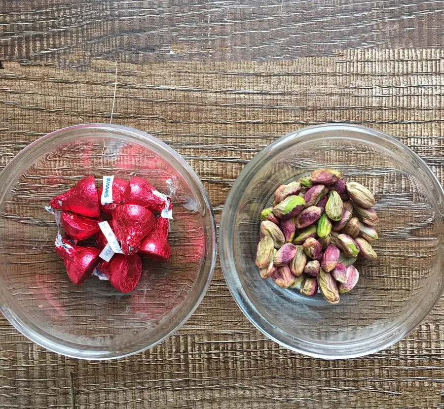
[[[1,167],[47,132],[110,120],[114,62],[94,61],[88,73],[3,65]],[[218,223],[231,184],[260,149],[321,122],[393,135],[444,182],[441,50],[117,67],[113,123],[148,131],[183,155],[202,179]],[[218,263],[201,306],[182,329],[119,361],[58,356],[1,317],[0,408],[71,408],[71,373],[82,409],[444,408],[443,319],[441,302],[391,348],[354,360],[311,359],[250,324]]]

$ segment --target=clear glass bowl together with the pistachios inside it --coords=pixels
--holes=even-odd
[[[345,191],[316,180],[334,178],[326,169]],[[345,124],[304,128],[236,179],[222,213],[222,270],[272,340],[310,356],[362,356],[404,338],[438,302],[443,215],[438,180],[395,138]]]

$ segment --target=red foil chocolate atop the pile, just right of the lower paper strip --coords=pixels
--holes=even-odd
[[[142,240],[155,225],[155,217],[150,210],[140,205],[117,206],[112,217],[115,237],[120,241],[124,254],[135,254]]]

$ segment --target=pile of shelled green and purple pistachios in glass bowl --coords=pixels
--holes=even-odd
[[[262,278],[283,288],[321,291],[332,304],[358,282],[358,257],[374,260],[378,238],[370,190],[346,183],[333,169],[318,169],[276,189],[271,207],[260,213],[256,265]]]

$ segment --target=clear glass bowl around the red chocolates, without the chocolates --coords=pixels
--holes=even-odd
[[[50,199],[84,176],[146,178],[174,205],[168,263],[143,261],[128,294],[89,277],[69,280],[54,251]],[[55,131],[0,174],[0,309],[22,334],[63,355],[111,359],[171,335],[201,302],[215,266],[213,210],[194,171],[165,143],[136,129],[87,124]]]

